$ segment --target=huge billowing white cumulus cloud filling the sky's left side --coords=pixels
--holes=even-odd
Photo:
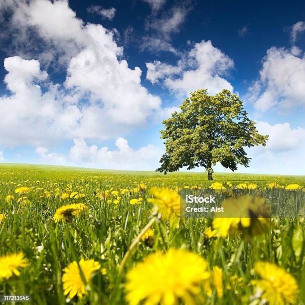
[[[159,97],[141,84],[141,69],[131,69],[123,59],[115,32],[84,24],[66,0],[18,2],[11,18],[54,50],[52,56],[66,63],[67,77],[53,84],[38,60],[6,58],[11,94],[0,97],[0,144],[39,147],[76,137],[109,139],[144,126],[161,110]]]

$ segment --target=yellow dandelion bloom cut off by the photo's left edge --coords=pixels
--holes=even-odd
[[[9,279],[13,274],[20,275],[18,268],[24,268],[28,261],[22,252],[8,254],[0,257],[0,279]]]

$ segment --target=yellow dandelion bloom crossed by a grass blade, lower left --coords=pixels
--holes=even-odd
[[[79,262],[79,267],[85,277],[86,282],[88,283],[94,271],[99,270],[101,265],[99,262],[94,260],[85,261],[81,259]],[[85,284],[79,273],[79,268],[77,262],[72,262],[68,267],[64,268],[64,274],[62,276],[62,283],[64,289],[64,295],[69,295],[69,298],[72,299],[74,296],[78,296],[80,299],[83,295],[87,295],[85,289]]]

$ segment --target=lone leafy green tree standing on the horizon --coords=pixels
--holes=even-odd
[[[181,112],[174,112],[164,120],[165,130],[161,139],[165,142],[165,153],[156,170],[176,171],[182,166],[192,169],[206,168],[208,179],[213,180],[212,165],[237,169],[237,164],[249,166],[244,147],[265,146],[268,136],[260,135],[255,123],[247,117],[243,102],[229,90],[222,90],[215,96],[207,89],[190,93],[180,106]]]

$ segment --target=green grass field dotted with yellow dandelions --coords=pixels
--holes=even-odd
[[[304,218],[178,216],[181,189],[215,182],[291,196],[305,188],[305,176],[208,181],[205,173],[0,164],[0,295],[31,295],[31,304],[305,304]]]

